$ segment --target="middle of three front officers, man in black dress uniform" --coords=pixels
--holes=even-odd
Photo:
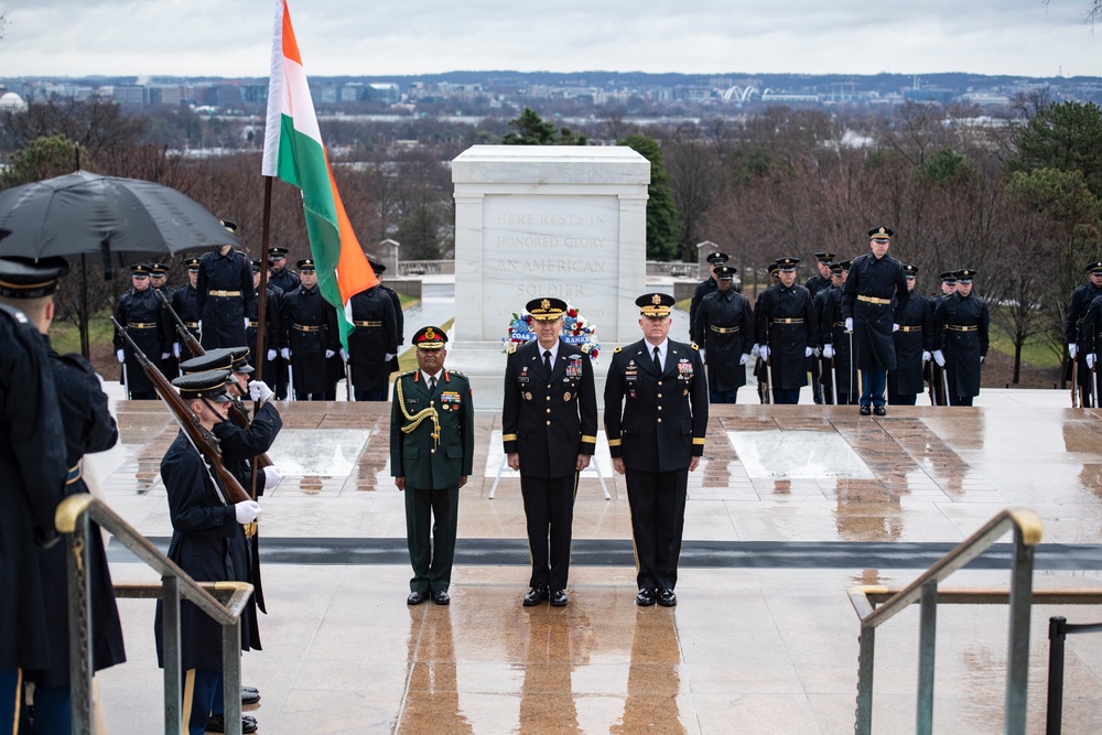
[[[526,306],[536,339],[509,353],[505,367],[501,441],[520,472],[531,591],[526,607],[568,603],[570,540],[577,474],[597,446],[597,394],[590,356],[562,342],[566,302],[534,299]]]

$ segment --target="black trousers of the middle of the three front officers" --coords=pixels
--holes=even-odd
[[[520,495],[528,519],[532,587],[565,590],[570,575],[570,539],[574,525],[577,473],[566,477],[520,475]]]

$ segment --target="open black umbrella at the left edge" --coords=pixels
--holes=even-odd
[[[0,256],[115,268],[187,250],[239,245],[217,217],[174,188],[76,171],[0,192]]]

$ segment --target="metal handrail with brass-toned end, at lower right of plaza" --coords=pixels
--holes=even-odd
[[[1034,549],[1040,543],[1044,526],[1028,509],[1008,509],[942,556],[909,585],[892,594],[879,606],[875,602],[888,594],[886,587],[853,587],[850,602],[861,618],[857,662],[857,735],[871,735],[873,721],[873,663],[876,628],[910,605],[920,603],[918,722],[916,732],[933,731],[933,660],[937,638],[937,608],[947,593],[938,584],[957,570],[980,556],[1007,531],[1014,532],[1014,563],[1011,572],[1011,629],[1007,651],[1006,702],[1003,732],[1025,733],[1026,684],[1029,664],[1029,615],[1033,604]],[[969,591],[975,594],[975,591]],[[987,591],[990,592],[990,591]]]

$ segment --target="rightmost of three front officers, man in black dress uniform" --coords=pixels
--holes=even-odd
[[[673,342],[673,296],[636,300],[644,338],[617,348],[605,382],[605,433],[627,482],[641,607],[678,604],[678,560],[689,473],[704,453],[707,382],[695,345]]]

